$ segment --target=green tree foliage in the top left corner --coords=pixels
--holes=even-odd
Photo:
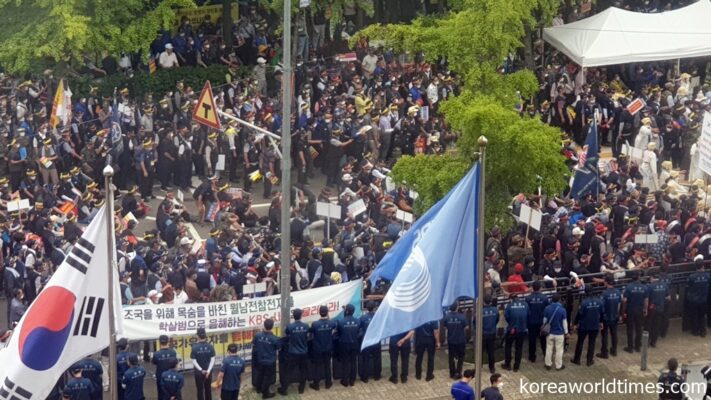
[[[102,50],[147,54],[156,31],[190,7],[193,0],[0,0],[0,64],[18,73]]]

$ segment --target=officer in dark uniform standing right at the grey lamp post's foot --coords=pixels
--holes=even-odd
[[[284,332],[287,341],[287,356],[286,368],[283,368],[280,373],[279,394],[282,396],[286,396],[286,392],[289,390],[289,377],[294,369],[299,370],[299,393],[304,393],[306,388],[309,326],[301,322],[301,314],[300,308],[295,308],[292,311],[294,322],[290,323]]]

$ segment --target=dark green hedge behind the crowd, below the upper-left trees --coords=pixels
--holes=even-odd
[[[136,72],[129,78],[124,74],[114,74],[100,79],[76,78],[71,79],[69,85],[76,97],[84,97],[89,93],[90,86],[99,88],[99,94],[111,95],[114,88],[121,90],[128,88],[131,97],[143,97],[146,93],[153,93],[153,98],[160,98],[166,92],[175,90],[175,84],[183,81],[185,87],[192,87],[197,93],[202,90],[205,81],[210,81],[213,87],[225,83],[227,67],[224,65],[210,65],[201,67],[180,67],[174,69],[159,69],[153,74]],[[240,77],[249,74],[249,69],[240,69]]]

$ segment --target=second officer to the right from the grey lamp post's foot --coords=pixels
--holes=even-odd
[[[331,357],[333,356],[333,334],[336,332],[337,324],[328,318],[328,307],[321,306],[318,309],[320,319],[311,324],[311,358],[316,370],[314,380],[309,385],[314,390],[319,390],[321,378],[326,383],[326,389],[333,385],[331,379]]]

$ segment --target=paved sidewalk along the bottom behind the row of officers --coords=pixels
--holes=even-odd
[[[577,366],[570,362],[572,357],[572,351],[575,346],[575,337],[571,338],[570,348],[565,354],[563,360],[566,366],[565,370],[557,372],[547,371],[543,368],[543,357],[539,356],[539,361],[536,364],[531,364],[526,360],[524,356],[524,361],[521,364],[521,369],[519,372],[510,372],[500,370],[498,372],[504,375],[505,385],[502,388],[502,394],[506,400],[520,400],[520,399],[599,399],[604,397],[605,399],[657,399],[656,395],[641,395],[641,394],[531,394],[522,393],[520,391],[521,382],[601,382],[603,378],[606,381],[610,381],[612,378],[617,378],[618,380],[627,379],[629,382],[634,383],[654,383],[660,374],[660,371],[666,365],[666,362],[671,357],[676,357],[679,360],[679,364],[693,364],[692,368],[696,370],[700,369],[701,366],[706,365],[707,360],[711,360],[711,340],[707,338],[700,338],[691,336],[689,334],[681,332],[680,320],[672,321],[670,327],[669,336],[665,339],[661,339],[657,343],[657,347],[654,349],[650,348],[648,356],[648,368],[647,371],[640,371],[640,353],[628,354],[621,349],[625,347],[626,334],[625,327],[619,327],[620,333],[620,343],[618,356],[610,358],[607,360],[596,359],[595,365],[591,367]],[[527,345],[524,345],[524,352],[527,352]],[[600,339],[598,338],[596,349],[600,348]],[[471,347],[468,347],[467,351],[472,351]],[[378,382],[369,381],[368,383],[362,383],[356,381],[356,384],[352,388],[344,388],[340,383],[335,382],[334,386],[330,390],[321,389],[316,392],[311,389],[306,388],[306,392],[303,395],[299,395],[296,390],[296,385],[292,385],[289,390],[290,399],[304,399],[304,400],[330,400],[330,399],[357,399],[357,400],[420,400],[420,399],[449,399],[450,386],[452,380],[449,379],[449,372],[447,370],[447,356],[445,350],[440,350],[437,353],[437,360],[435,363],[435,379],[431,382],[425,382],[425,380],[418,381],[414,377],[414,355],[410,360],[410,379],[407,384],[397,384],[394,385],[387,380],[389,377],[390,361],[388,355],[383,353],[383,379]],[[497,368],[501,363],[497,364]],[[466,365],[465,368],[471,368],[471,365]],[[499,368],[500,369],[500,368]],[[697,371],[694,371],[697,372]],[[696,378],[700,378],[696,374]],[[488,377],[485,375],[485,377]],[[243,381],[249,382],[249,376],[244,375]],[[488,385],[488,381],[486,382]],[[192,379],[186,377],[184,393],[190,393],[194,390],[194,383]],[[152,385],[151,389],[152,390]],[[150,393],[150,392],[149,392]],[[152,393],[151,393],[152,394]],[[184,396],[185,398],[192,398]],[[277,399],[279,396],[276,397]],[[240,399],[261,399],[257,393],[253,391],[251,386],[243,386],[242,392],[240,393]]]

